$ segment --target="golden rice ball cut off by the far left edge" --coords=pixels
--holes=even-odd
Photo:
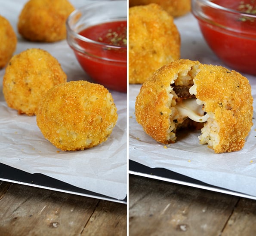
[[[0,15],[0,69],[6,66],[17,46],[17,37],[9,21]]]

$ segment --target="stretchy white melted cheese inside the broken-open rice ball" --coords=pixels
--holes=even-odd
[[[197,100],[195,98],[184,99],[181,102],[178,102],[175,108],[178,110],[179,115],[188,117],[199,123],[206,122],[209,118],[208,114],[204,115],[203,106],[201,104],[197,104]]]

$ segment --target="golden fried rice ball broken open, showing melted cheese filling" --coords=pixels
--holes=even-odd
[[[199,140],[216,153],[243,148],[253,117],[248,79],[225,67],[181,59],[155,71],[136,98],[136,120],[158,142],[202,124]]]

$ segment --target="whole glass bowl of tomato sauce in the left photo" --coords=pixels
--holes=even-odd
[[[66,22],[68,44],[83,70],[96,83],[120,92],[127,92],[126,22],[126,0],[89,3]]]

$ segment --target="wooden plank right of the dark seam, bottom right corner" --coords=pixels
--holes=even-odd
[[[256,201],[241,198],[228,220],[222,236],[256,235]]]

